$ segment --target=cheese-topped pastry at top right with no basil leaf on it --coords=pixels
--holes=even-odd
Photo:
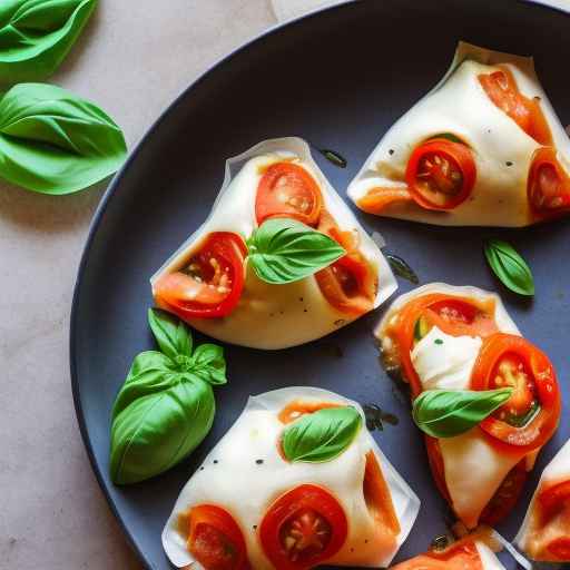
[[[568,213],[570,140],[532,58],[460,42],[348,195],[371,214],[440,225],[519,227]]]

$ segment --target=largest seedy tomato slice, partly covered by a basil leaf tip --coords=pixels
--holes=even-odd
[[[471,376],[472,390],[512,387],[512,396],[480,426],[504,450],[534,451],[560,419],[560,390],[548,356],[521,336],[495,333],[484,340]]]

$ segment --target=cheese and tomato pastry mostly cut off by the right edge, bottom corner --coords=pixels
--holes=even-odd
[[[542,472],[514,540],[533,560],[570,562],[570,441]]]

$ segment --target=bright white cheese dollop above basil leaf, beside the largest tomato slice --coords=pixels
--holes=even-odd
[[[452,336],[432,327],[412,351],[423,389],[469,390],[482,344],[479,336]]]

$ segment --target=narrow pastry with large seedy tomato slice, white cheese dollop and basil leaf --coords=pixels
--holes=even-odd
[[[433,283],[402,295],[376,335],[386,367],[401,372],[414,402],[421,394],[425,401],[428,391],[438,397],[446,391],[449,401],[461,396],[472,405],[502,391],[503,400],[479,423],[452,431],[458,417],[470,421],[469,412],[461,415],[469,405],[458,405],[458,416],[443,410],[438,432],[424,429],[435,483],[458,518],[470,529],[499,522],[558,426],[560,394],[550,361],[522,338],[500,297],[476,287]],[[493,392],[474,394],[483,391]]]

